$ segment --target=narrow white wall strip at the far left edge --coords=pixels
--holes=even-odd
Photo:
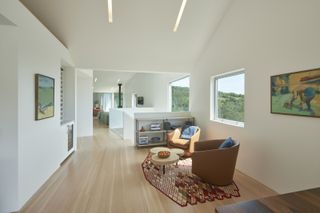
[[[17,28],[0,25],[0,212],[18,209]]]

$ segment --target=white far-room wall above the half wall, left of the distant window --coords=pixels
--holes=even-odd
[[[132,93],[144,97],[143,107],[157,111],[169,110],[169,83],[187,74],[137,73],[124,85],[125,107],[131,107]]]

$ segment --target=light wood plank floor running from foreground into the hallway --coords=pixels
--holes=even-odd
[[[41,187],[21,213],[214,212],[215,206],[275,195],[236,172],[241,197],[180,207],[144,178],[148,149],[136,149],[95,123],[94,136],[78,140],[74,153]]]

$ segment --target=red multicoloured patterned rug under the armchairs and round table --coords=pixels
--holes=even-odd
[[[229,186],[214,186],[192,174],[191,158],[180,160],[178,165],[167,165],[165,174],[162,174],[162,168],[154,165],[150,158],[149,154],[142,163],[145,178],[180,206],[240,197],[239,188],[234,182]]]

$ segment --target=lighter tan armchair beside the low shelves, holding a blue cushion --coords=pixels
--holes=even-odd
[[[200,138],[200,128],[197,127],[195,134],[190,138],[190,140],[182,139],[181,129],[177,128],[173,132],[167,134],[167,141],[169,147],[176,147],[185,150],[185,157],[190,157],[194,152],[194,146]]]

